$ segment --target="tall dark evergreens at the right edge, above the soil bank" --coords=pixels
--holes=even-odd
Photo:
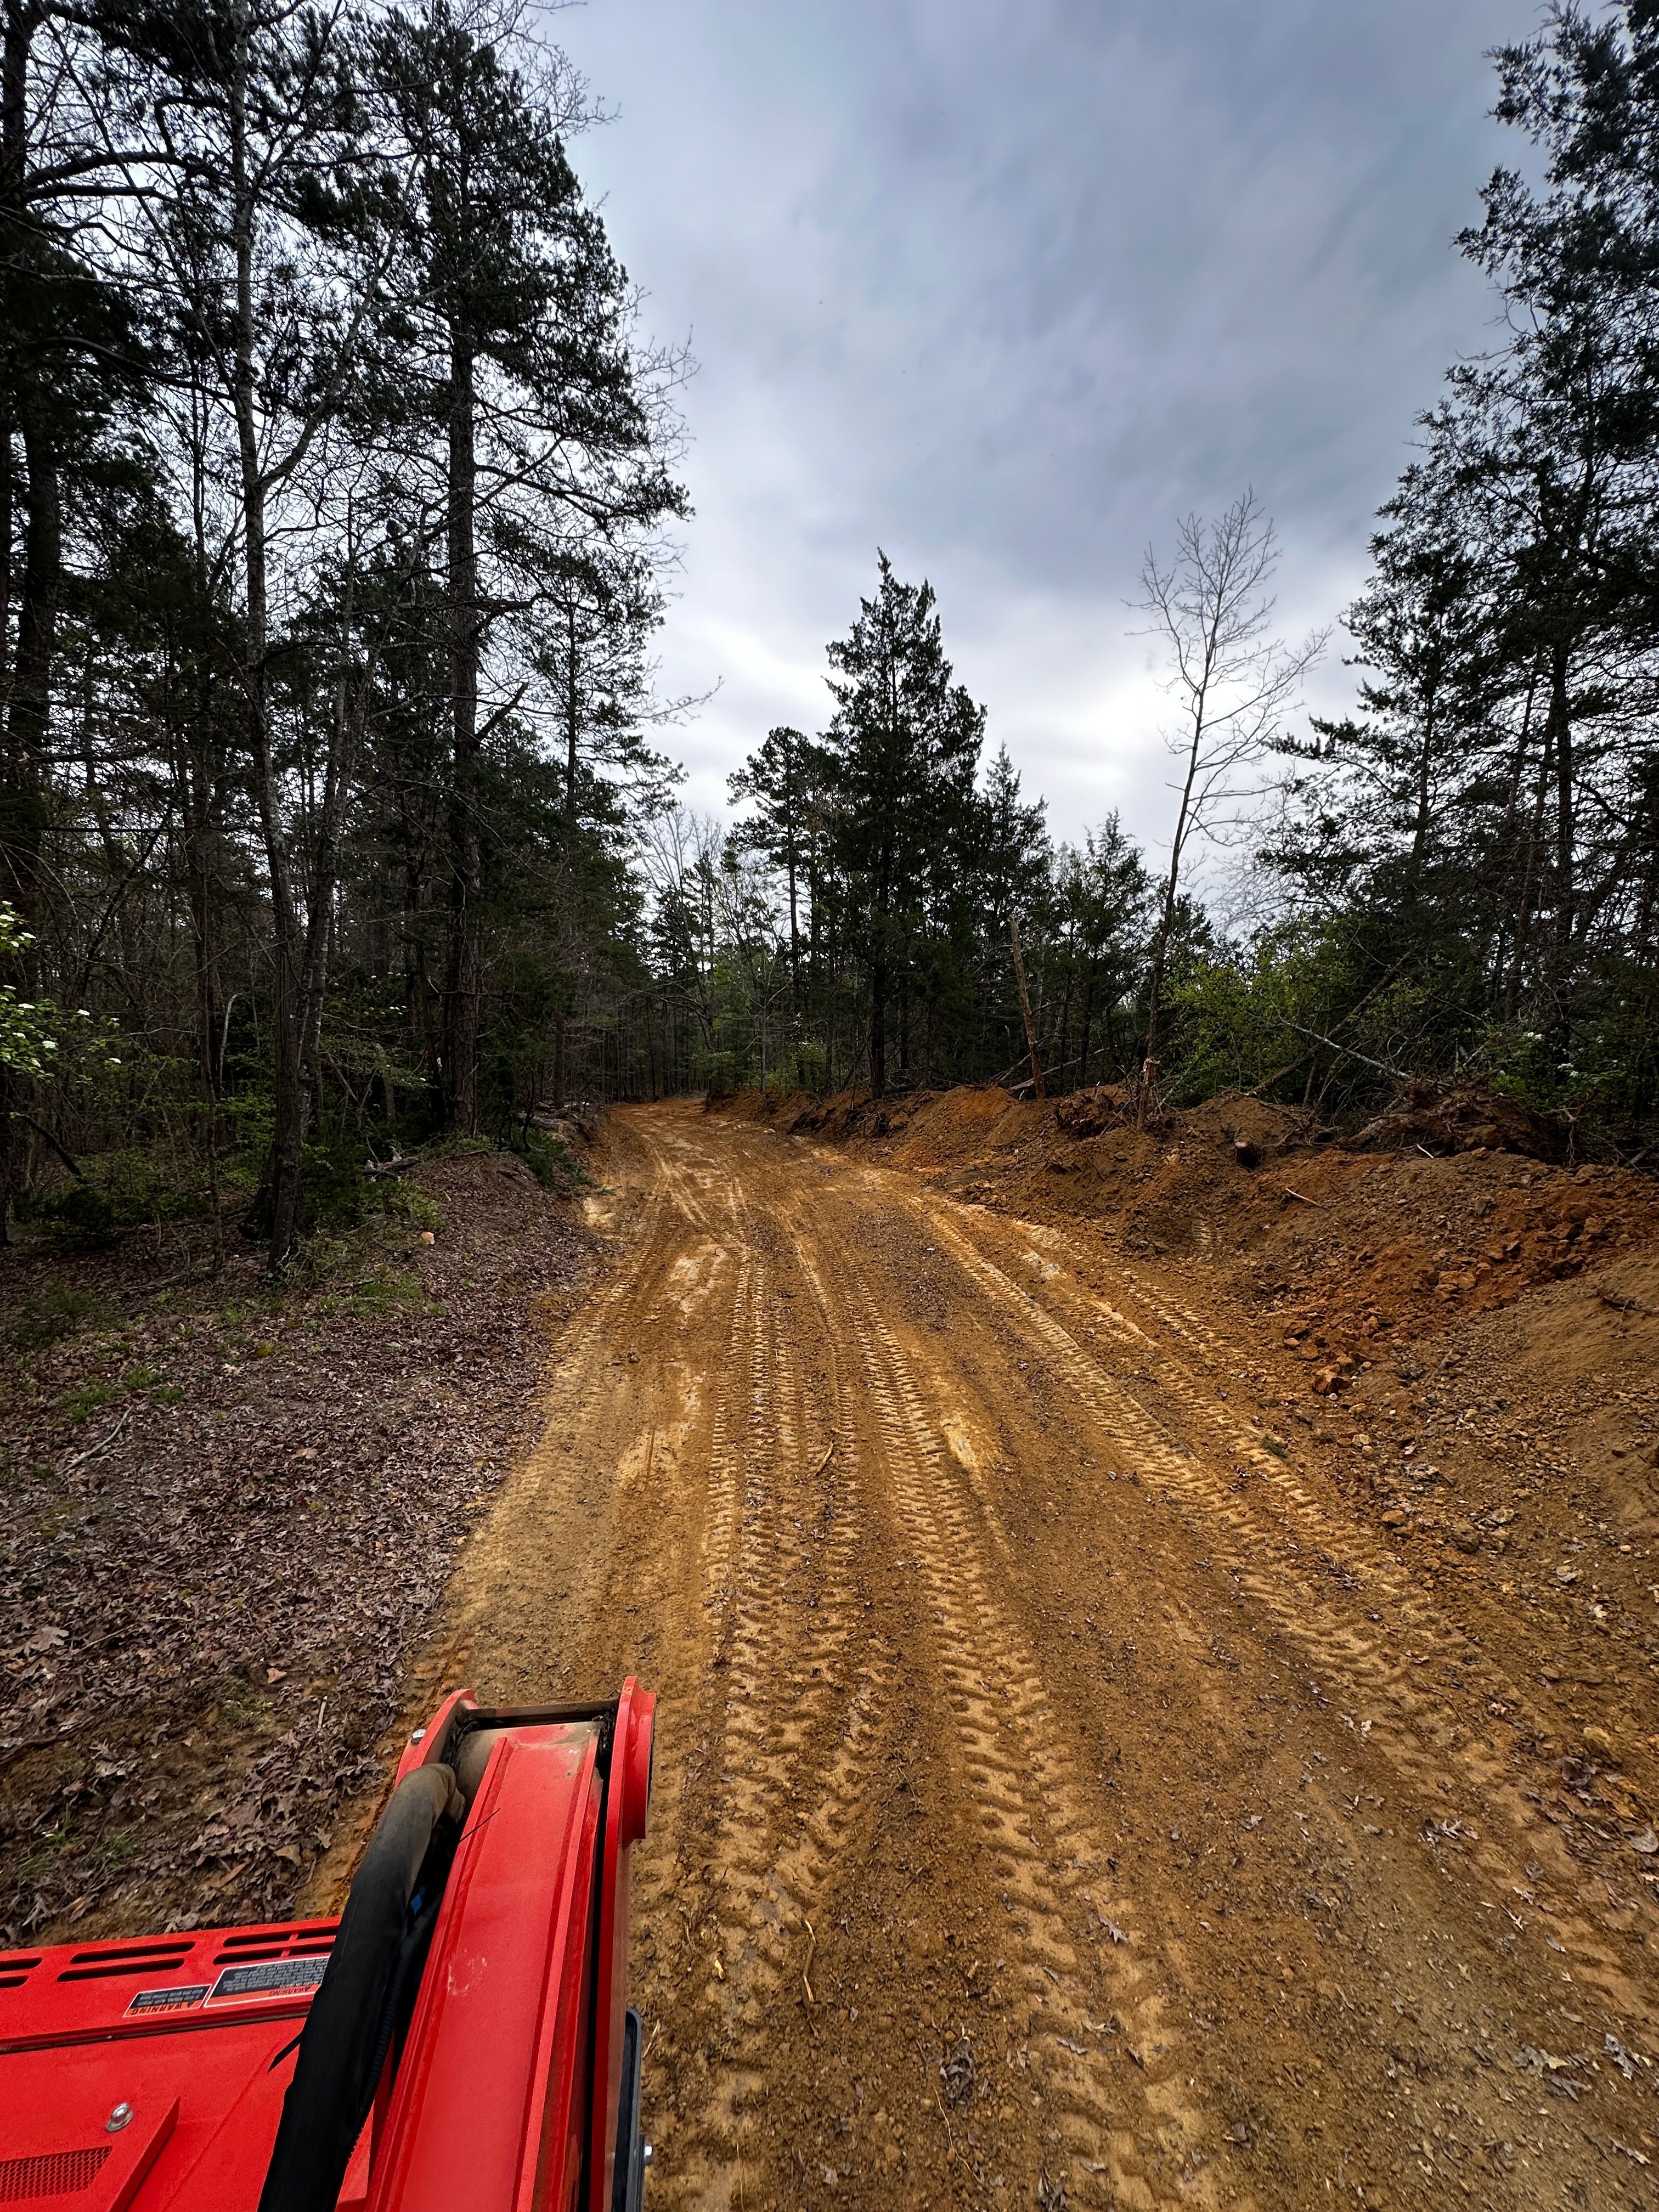
[[[1345,1046],[1635,1133],[1659,1108],[1659,15],[1551,9],[1495,62],[1531,150],[1460,248],[1504,338],[1420,422],[1347,613],[1358,712],[1287,748],[1263,858],[1338,967],[1371,936],[1329,998]]]

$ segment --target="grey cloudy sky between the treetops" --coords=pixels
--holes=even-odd
[[[1451,250],[1506,133],[1526,0],[588,0],[551,29],[617,119],[575,148],[648,325],[690,338],[664,686],[688,799],[776,721],[876,546],[1053,827],[1168,818],[1126,602],[1245,484],[1281,622],[1332,622],[1447,363],[1491,336]],[[1340,635],[1316,679],[1347,697]]]

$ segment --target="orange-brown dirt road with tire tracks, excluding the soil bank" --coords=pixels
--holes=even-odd
[[[657,2205],[1655,2203],[1657,1958],[1502,1621],[1252,1422],[1243,1316],[686,1106],[604,1175],[414,1703],[661,1692]]]

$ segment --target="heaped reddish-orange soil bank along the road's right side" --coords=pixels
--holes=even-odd
[[[1325,1389],[1360,1358],[1659,1234],[1650,1177],[1555,1164],[1553,1121],[1473,1086],[1418,1086],[1347,1144],[1252,1097],[1137,1130],[1113,1086],[1046,1104],[995,1086],[880,1102],[750,1091],[710,1110],[854,1146],[995,1212],[1084,1219],[1124,1252],[1201,1261],[1250,1301],[1287,1298],[1283,1334],[1334,1369]]]

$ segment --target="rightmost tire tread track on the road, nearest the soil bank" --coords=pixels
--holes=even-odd
[[[949,1212],[960,1214],[964,1210],[951,1206]],[[1177,1447],[1157,1418],[1121,1383],[1108,1376],[1097,1356],[1051,1312],[1037,1290],[1018,1283],[1002,1265],[989,1259],[973,1232],[949,1219],[945,1206],[938,1201],[927,1206],[925,1217],[929,1230],[949,1241],[964,1274],[991,1298],[1004,1307],[1013,1307],[1026,1327],[1040,1334],[1044,1349],[1091,1411],[1104,1438],[1130,1453],[1144,1475],[1155,1475],[1168,1491],[1181,1495],[1188,1506],[1203,1513],[1210,1524],[1206,1528],[1206,1546],[1223,1562],[1237,1588],[1248,1593],[1267,1613],[1276,1632],[1287,1644],[1298,1646],[1325,1677],[1340,1677],[1347,1703],[1356,1708],[1349,1725],[1365,1725],[1369,1745],[1387,1759],[1420,1803],[1438,1803],[1449,1745],[1433,1741],[1438,1736],[1438,1721],[1429,1701],[1416,1690],[1413,1674],[1418,1668],[1433,1661],[1451,1661],[1475,1677],[1482,1697],[1504,1699],[1522,1710],[1528,1703],[1524,1690],[1405,1582],[1398,1562],[1383,1546],[1367,1542],[1358,1531],[1338,1531],[1334,1517],[1296,1482],[1283,1462],[1263,1451],[1243,1422],[1237,1422],[1219,1407],[1212,1394],[1170,1354],[1150,1345],[1148,1356],[1157,1360],[1164,1387],[1170,1396],[1179,1398],[1183,1411],[1210,1429],[1217,1449],[1225,1451],[1234,1462],[1239,1458],[1248,1460],[1254,1480],[1272,1489],[1287,1515],[1314,1524],[1310,1551],[1303,1551],[1294,1537],[1285,1537],[1283,1533],[1274,1542],[1274,1535],[1263,1528],[1252,1511],[1248,1495],[1219,1482],[1201,1458]],[[1024,1228],[1029,1225],[1022,1223]],[[1042,1287],[1051,1296],[1066,1294],[1060,1290],[1055,1276],[1044,1279]],[[1139,1283],[1133,1287],[1137,1298],[1146,1296]],[[1082,1287],[1071,1296],[1084,1307],[1097,1303]],[[1150,1296],[1146,1303],[1159,1312],[1159,1305]],[[1135,1336],[1146,1338],[1146,1332],[1135,1329]],[[1217,1522],[1225,1528],[1221,1544],[1214,1542]],[[1400,1650],[1389,1650],[1380,1635],[1365,1635],[1352,1617],[1338,1615],[1305,1571],[1310,1564],[1323,1564],[1327,1571],[1334,1566],[1338,1575],[1363,1584],[1374,1599],[1371,1610],[1385,1604],[1394,1617]],[[1407,1648],[1407,1637],[1411,1648]],[[1360,1723],[1358,1708],[1367,1703],[1374,1712]],[[1425,1743],[1422,1736],[1431,1741]],[[1469,1774],[1471,1794],[1504,1807],[1509,1825],[1515,1832],[1515,1845],[1504,1847],[1486,1829],[1475,1829],[1467,1820],[1449,1823],[1442,1840],[1453,1843],[1489,1882],[1498,1885],[1500,1893],[1526,1893],[1524,1863],[1528,1854],[1548,1854],[1562,1860],[1559,1871],[1568,1874],[1559,1840],[1553,1829],[1528,1814],[1506,1767],[1495,1756],[1482,1752],[1478,1743],[1458,1745],[1455,1759]],[[1588,1920],[1568,1907],[1557,1907],[1548,1929],[1542,1920],[1533,1922],[1533,1927],[1540,1940],[1564,1940],[1575,1966],[1626,2020],[1644,2024],[1650,2020],[1648,2000]]]

